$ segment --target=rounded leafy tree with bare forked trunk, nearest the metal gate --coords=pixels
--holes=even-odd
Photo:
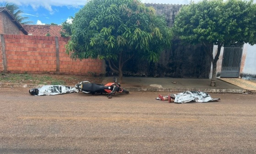
[[[216,85],[216,68],[221,47],[230,43],[256,43],[256,5],[253,0],[202,0],[181,8],[174,31],[181,39],[202,43],[212,60],[211,86]],[[209,44],[218,45],[212,55]]]

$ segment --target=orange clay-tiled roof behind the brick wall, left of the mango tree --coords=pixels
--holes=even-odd
[[[50,34],[52,37],[60,37],[60,31],[62,26],[53,25],[22,25],[22,27],[28,32],[29,35],[34,36],[46,36]]]

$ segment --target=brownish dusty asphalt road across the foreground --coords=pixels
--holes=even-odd
[[[256,154],[256,95],[210,95],[221,101],[0,88],[0,154]]]

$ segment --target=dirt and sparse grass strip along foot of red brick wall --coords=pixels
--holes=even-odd
[[[66,74],[0,74],[0,84],[71,85],[81,81],[101,84],[103,76]]]

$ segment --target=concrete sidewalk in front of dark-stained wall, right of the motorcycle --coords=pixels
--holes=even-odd
[[[242,80],[241,80],[242,81]],[[113,82],[113,77],[105,77],[103,84]],[[250,82],[250,81],[249,81]],[[193,91],[220,93],[253,92],[223,80],[216,80],[216,87],[210,86],[211,79],[180,79],[180,78],[150,78],[124,77],[121,86],[130,91]]]

